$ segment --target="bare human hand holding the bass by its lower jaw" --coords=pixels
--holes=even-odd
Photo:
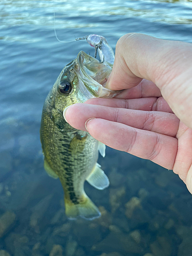
[[[106,85],[126,90],[74,104],[65,118],[110,147],[173,169],[192,193],[191,59],[191,44],[127,34]]]

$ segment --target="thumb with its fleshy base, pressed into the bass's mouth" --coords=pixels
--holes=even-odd
[[[106,87],[122,90],[143,79],[160,89],[172,111],[192,128],[192,44],[126,34],[116,45],[114,67]]]

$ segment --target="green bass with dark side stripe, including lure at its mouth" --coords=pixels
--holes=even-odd
[[[80,51],[77,57],[63,68],[50,90],[43,109],[40,125],[40,140],[44,154],[44,167],[52,178],[59,178],[65,200],[65,212],[69,219],[78,217],[92,220],[100,217],[98,207],[84,191],[84,182],[97,189],[109,186],[108,177],[97,163],[98,152],[105,156],[105,145],[94,139],[88,132],[74,129],[63,118],[63,110],[74,103],[85,102],[95,97],[112,98],[118,94],[104,88],[113,64],[113,50],[106,39],[90,35],[87,41],[96,46],[99,39],[100,61]],[[107,53],[106,46],[110,49]],[[105,50],[106,58],[102,56]]]

